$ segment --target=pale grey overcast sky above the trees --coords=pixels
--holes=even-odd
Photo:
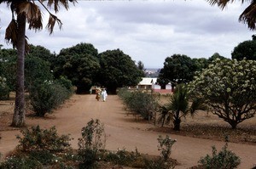
[[[99,53],[119,48],[146,68],[162,68],[166,57],[185,54],[209,58],[218,53],[231,58],[232,50],[252,39],[255,31],[238,22],[247,3],[230,3],[221,10],[206,0],[81,1],[56,15],[63,23],[49,36],[46,30],[26,31],[29,43],[58,54],[80,42],[91,43]],[[43,8],[41,8],[43,9]],[[48,14],[44,11],[44,27]],[[0,5],[0,44],[11,13]]]

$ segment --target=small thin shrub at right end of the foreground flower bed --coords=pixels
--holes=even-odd
[[[160,151],[161,157],[164,161],[168,161],[172,152],[172,145],[176,142],[176,140],[169,138],[166,135],[166,138],[162,138],[159,136],[158,140],[158,150]]]

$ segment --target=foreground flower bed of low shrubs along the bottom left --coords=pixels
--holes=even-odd
[[[159,156],[143,155],[137,148],[135,151],[105,149],[106,137],[104,125],[99,120],[90,120],[81,129],[79,149],[72,149],[69,143],[73,138],[69,135],[58,135],[55,127],[42,129],[39,126],[26,128],[17,136],[19,144],[0,164],[2,169],[93,169],[130,166],[145,169],[170,169],[177,165],[172,160],[172,144],[176,141],[167,137],[159,137]]]

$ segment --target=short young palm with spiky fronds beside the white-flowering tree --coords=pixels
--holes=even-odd
[[[162,126],[165,123],[173,122],[173,129],[180,130],[181,119],[186,115],[194,115],[196,110],[207,110],[207,106],[201,99],[189,99],[188,89],[179,84],[175,88],[169,103],[162,106],[159,122]]]

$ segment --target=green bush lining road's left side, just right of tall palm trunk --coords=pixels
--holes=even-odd
[[[35,111],[36,115],[44,116],[63,104],[72,93],[73,88],[70,87],[70,82],[63,77],[56,82],[36,84],[30,88],[29,98],[31,99],[32,110]]]

